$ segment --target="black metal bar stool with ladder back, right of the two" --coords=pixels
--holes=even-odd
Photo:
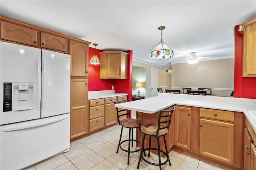
[[[171,110],[161,110],[160,113],[159,113],[159,117],[158,117],[158,124],[146,124],[146,125],[143,125],[141,127],[141,131],[144,133],[144,136],[143,136],[143,140],[142,140],[142,147],[141,147],[141,150],[140,150],[140,158],[139,158],[137,169],[140,166],[141,158],[145,162],[147,162],[148,164],[159,166],[160,170],[162,169],[161,166],[166,164],[167,162],[169,162],[170,166],[172,166],[172,164],[170,162],[169,155],[168,155],[165,135],[168,133],[168,129],[169,129],[170,124],[171,124],[172,113],[173,113],[174,110],[175,110],[175,106],[173,106],[173,108]],[[149,135],[149,147],[144,149],[144,141],[145,141],[146,135]],[[158,144],[157,149],[156,148],[151,148],[151,137],[156,137],[157,144]],[[163,150],[160,150],[159,137],[164,137],[164,146],[165,146],[166,152],[164,152]],[[150,156],[150,150],[158,150],[158,159],[159,159],[158,164],[153,163],[153,162],[149,162],[148,160],[146,160],[143,157],[142,153],[144,152],[144,155],[145,155],[146,150],[148,150],[148,156]],[[163,162],[163,163],[161,163],[160,152],[162,152],[166,156],[166,161]]]

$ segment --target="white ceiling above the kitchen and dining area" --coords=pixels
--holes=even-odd
[[[0,0],[0,6],[1,15],[98,43],[100,50],[132,50],[134,61],[164,68],[190,52],[233,58],[234,26],[256,17],[256,0]],[[162,25],[174,57],[155,61],[149,53]]]

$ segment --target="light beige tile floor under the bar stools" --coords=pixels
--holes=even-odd
[[[135,129],[136,130],[136,129]],[[121,127],[116,125],[104,131],[90,135],[70,144],[70,150],[40,162],[27,170],[136,170],[139,152],[130,154],[130,165],[127,165],[128,153],[123,150],[116,153]],[[134,131],[134,138],[136,137]],[[122,140],[128,139],[129,131],[123,130]],[[125,146],[125,143],[123,145]],[[136,149],[136,147],[135,147]],[[163,170],[222,170],[227,169],[206,162],[186,153],[172,150],[169,153],[172,166],[165,164]],[[150,161],[158,156],[150,154]],[[140,163],[140,170],[158,170],[158,166]]]

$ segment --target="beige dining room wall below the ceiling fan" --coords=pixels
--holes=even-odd
[[[172,88],[212,88],[212,95],[230,96],[234,89],[234,59],[172,64]]]

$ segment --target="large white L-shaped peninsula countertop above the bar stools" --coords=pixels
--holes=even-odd
[[[256,114],[248,113],[256,111],[256,99],[158,93],[158,96],[116,104],[115,107],[152,114],[174,104],[243,112],[256,132]]]

